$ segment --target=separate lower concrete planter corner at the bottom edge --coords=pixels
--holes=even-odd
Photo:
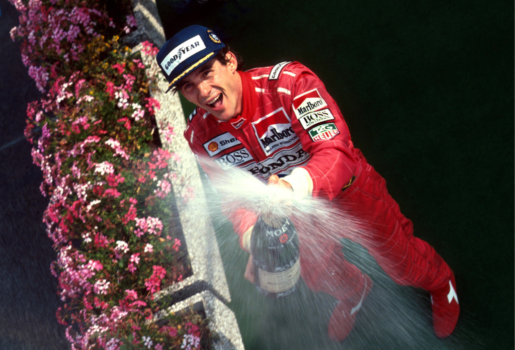
[[[189,306],[197,306],[198,303],[201,303],[208,319],[211,339],[213,340],[212,344],[215,350],[244,350],[234,313],[209,291],[195,294],[182,302],[159,311],[155,314],[152,321],[158,322],[170,312],[179,312]]]

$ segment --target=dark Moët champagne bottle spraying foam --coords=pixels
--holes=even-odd
[[[256,288],[270,298],[294,292],[300,276],[299,237],[289,218],[262,215],[250,241]]]

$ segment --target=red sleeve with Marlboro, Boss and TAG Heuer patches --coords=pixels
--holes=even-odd
[[[313,197],[332,200],[349,183],[357,167],[349,129],[336,102],[313,72],[305,68],[295,78],[288,107],[291,126],[311,156],[303,168],[313,180]],[[318,117],[312,113],[318,113]],[[321,132],[324,129],[328,131]]]

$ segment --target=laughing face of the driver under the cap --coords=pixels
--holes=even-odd
[[[242,113],[242,79],[236,58],[230,51],[227,55],[231,56],[227,65],[212,59],[182,78],[178,86],[188,101],[222,121]]]

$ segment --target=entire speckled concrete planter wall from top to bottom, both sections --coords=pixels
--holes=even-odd
[[[138,30],[132,32],[125,40],[132,44],[148,40],[161,47],[165,43],[165,35],[155,1],[133,0],[132,4],[134,17],[138,21]],[[133,51],[141,47],[141,44],[135,45]],[[154,321],[167,312],[176,312],[188,305],[201,303],[208,318],[210,331],[214,335],[214,348],[243,350],[242,337],[234,313],[224,304],[231,301],[231,295],[205,203],[197,162],[182,137],[186,122],[179,97],[176,94],[164,94],[168,82],[161,75],[155,59],[147,58],[145,64],[151,65],[149,74],[157,73],[159,77],[159,89],[152,93],[152,97],[161,103],[161,109],[156,113],[158,127],[173,126],[176,133],[169,143],[161,136],[161,142],[164,149],[181,156],[177,166],[170,164],[170,170],[177,173],[177,179],[172,185],[193,270],[193,276],[155,294],[157,300],[168,296],[167,299],[172,300],[173,305],[158,313]],[[186,195],[188,188],[194,189],[195,198],[183,203],[182,196]],[[198,208],[206,210],[199,211]]]

